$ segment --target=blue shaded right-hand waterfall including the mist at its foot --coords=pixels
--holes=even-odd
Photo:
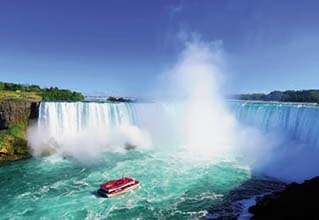
[[[240,129],[257,128],[243,140],[240,151],[254,169],[288,181],[318,175],[319,107],[284,103],[230,103]],[[240,130],[239,130],[240,132]],[[256,138],[257,143],[249,145]]]

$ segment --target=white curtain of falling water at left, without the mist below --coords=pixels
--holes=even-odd
[[[38,119],[39,128],[55,138],[76,136],[93,129],[108,133],[135,124],[135,108],[129,103],[42,102]]]

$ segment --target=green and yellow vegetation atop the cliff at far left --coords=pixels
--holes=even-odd
[[[22,85],[0,82],[0,99],[32,99],[44,101],[82,101],[84,96],[79,92],[57,87],[40,88],[38,85]]]

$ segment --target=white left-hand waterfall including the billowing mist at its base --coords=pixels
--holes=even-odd
[[[137,124],[135,105],[129,103],[42,102],[28,139],[36,156],[55,151],[87,160],[127,146],[149,146],[147,132]]]

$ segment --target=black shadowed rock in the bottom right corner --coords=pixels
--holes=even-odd
[[[249,208],[258,219],[319,219],[319,177],[302,184],[291,183],[277,193],[257,199]]]

